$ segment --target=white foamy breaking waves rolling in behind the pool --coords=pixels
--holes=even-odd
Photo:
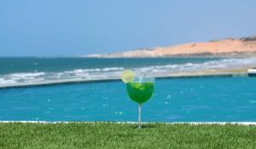
[[[173,72],[195,72],[209,69],[226,69],[256,66],[256,58],[210,60],[202,63],[169,64],[164,66],[134,67],[138,74],[165,76]],[[119,78],[125,67],[74,69],[64,72],[20,72],[0,76],[0,87],[26,84],[61,83]]]

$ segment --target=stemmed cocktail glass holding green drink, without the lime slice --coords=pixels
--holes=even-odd
[[[132,82],[126,83],[126,91],[138,104],[138,129],[141,129],[142,106],[154,93],[154,77],[135,77]]]

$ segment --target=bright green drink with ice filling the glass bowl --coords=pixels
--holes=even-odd
[[[154,83],[153,82],[126,83],[126,90],[127,90],[129,97],[131,98],[131,100],[134,100],[138,104],[143,104],[144,102],[149,100],[150,97],[153,95]]]

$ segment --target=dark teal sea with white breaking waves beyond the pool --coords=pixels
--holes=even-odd
[[[195,72],[256,66],[256,58],[0,58],[0,88],[26,84],[119,79],[128,68],[154,77],[175,72]]]

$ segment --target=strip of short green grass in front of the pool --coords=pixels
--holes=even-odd
[[[256,126],[0,123],[0,148],[256,148]]]

